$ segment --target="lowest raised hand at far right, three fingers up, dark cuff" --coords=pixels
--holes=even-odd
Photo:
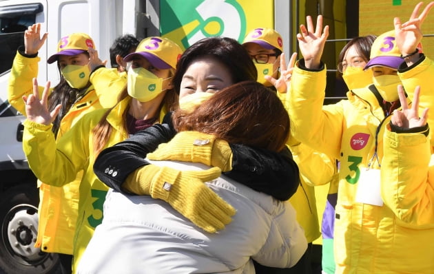
[[[398,85],[398,95],[400,96],[402,110],[395,109],[395,111],[393,111],[391,118],[392,124],[404,129],[411,129],[413,127],[422,127],[426,125],[426,120],[428,119],[428,108],[424,109],[422,117],[419,116],[418,111],[420,86],[415,88],[415,96],[411,108],[409,108],[409,104],[407,103],[402,85]]]

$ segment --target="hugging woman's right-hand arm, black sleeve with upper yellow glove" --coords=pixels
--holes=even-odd
[[[152,160],[181,160],[220,167],[223,174],[255,191],[288,200],[298,188],[298,166],[289,149],[280,153],[229,144],[212,134],[181,131],[170,143],[148,155]]]

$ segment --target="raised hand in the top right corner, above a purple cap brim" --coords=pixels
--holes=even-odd
[[[415,52],[417,45],[422,40],[422,23],[428,16],[428,12],[433,8],[434,1],[428,3],[422,13],[419,15],[419,10],[422,7],[423,2],[417,3],[413,12],[411,13],[409,21],[401,24],[398,17],[393,19],[393,25],[395,26],[395,39],[396,45],[400,49],[402,56],[407,56]]]

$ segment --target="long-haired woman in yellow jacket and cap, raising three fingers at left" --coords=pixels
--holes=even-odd
[[[56,105],[52,112],[47,109],[49,83],[41,101],[37,99],[36,79],[34,93],[24,97],[28,118],[24,123],[23,149],[37,178],[47,185],[63,187],[83,172],[73,240],[73,269],[103,217],[107,187],[92,171],[94,158],[103,147],[153,125],[167,110],[176,107],[178,96],[170,79],[181,53],[178,45],[168,39],[154,36],[141,41],[136,52],[125,56],[132,67],[127,74],[127,87],[119,96],[121,101],[111,109],[86,114],[57,141],[52,121],[61,105]]]

